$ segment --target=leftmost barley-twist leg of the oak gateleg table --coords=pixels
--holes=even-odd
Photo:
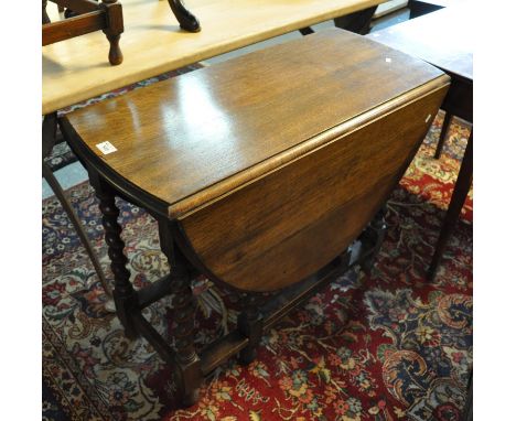
[[[89,181],[100,201],[99,207],[103,213],[105,239],[111,260],[111,271],[115,277],[112,298],[115,300],[117,315],[123,326],[126,336],[133,339],[138,336],[138,333],[135,328],[131,314],[137,311],[138,299],[132,283],[129,281],[130,272],[126,268],[128,262],[123,253],[126,245],[120,237],[122,228],[120,224],[118,224],[120,210],[115,204],[115,193],[106,182],[94,174],[89,174]]]

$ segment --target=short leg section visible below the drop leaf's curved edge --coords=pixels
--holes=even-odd
[[[264,333],[264,319],[260,313],[262,296],[258,293],[247,293],[245,309],[238,315],[238,331],[245,335],[249,342],[238,354],[240,364],[248,365],[256,358],[256,348],[260,344]]]

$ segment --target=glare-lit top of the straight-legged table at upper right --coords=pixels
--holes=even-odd
[[[422,58],[453,77],[473,80],[472,22],[472,7],[460,2],[367,37]]]

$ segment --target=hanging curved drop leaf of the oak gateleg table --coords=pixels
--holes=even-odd
[[[192,249],[243,290],[273,291],[310,276],[386,201],[444,94],[442,86],[184,217]]]

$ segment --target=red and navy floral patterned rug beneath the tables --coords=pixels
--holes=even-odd
[[[369,276],[348,272],[275,326],[248,367],[230,360],[201,400],[174,410],[171,370],[129,342],[58,202],[43,202],[44,420],[459,420],[472,367],[472,193],[434,281],[423,277],[469,128],[455,121],[432,159],[442,116],[388,202]],[[109,277],[90,186],[69,191]],[[137,288],[166,272],[155,223],[119,202]],[[238,298],[198,279],[198,345],[234,326]],[[170,338],[170,299],[146,316]],[[223,304],[224,303],[224,304]]]

